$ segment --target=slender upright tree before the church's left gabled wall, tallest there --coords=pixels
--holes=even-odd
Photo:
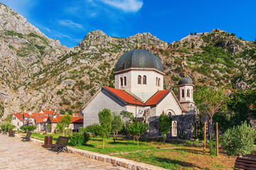
[[[112,123],[112,115],[109,109],[104,108],[102,111],[99,112],[99,121],[100,121],[100,127],[99,132],[100,136],[102,137],[102,143],[103,143],[103,149],[105,140],[110,135],[111,132],[111,123]]]

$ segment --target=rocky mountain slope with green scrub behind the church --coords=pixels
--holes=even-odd
[[[137,35],[114,38],[101,30],[88,33],[76,47],[65,47],[0,4],[0,117],[21,111],[57,108],[78,112],[100,86],[113,86],[114,64],[137,46]],[[229,93],[247,89],[248,50],[255,42],[214,29],[177,42],[150,33],[139,35],[141,48],[164,65],[165,86],[176,92],[183,69],[200,85],[221,86]],[[181,63],[186,59],[186,66]]]

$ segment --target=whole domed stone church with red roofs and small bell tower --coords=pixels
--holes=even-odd
[[[186,138],[190,138],[192,132],[188,129],[191,129],[192,118],[186,115],[193,113],[192,80],[183,77],[177,88],[178,96],[174,91],[164,89],[164,67],[159,58],[139,49],[138,45],[119,57],[115,65],[114,88],[102,86],[81,108],[84,127],[99,123],[99,111],[107,108],[114,113],[128,111],[135,118],[144,118],[150,126],[149,136],[159,136],[157,121],[164,112],[173,118],[171,136],[177,137],[177,129],[181,131],[185,125],[183,131],[189,131]],[[179,133],[182,135],[183,132]]]

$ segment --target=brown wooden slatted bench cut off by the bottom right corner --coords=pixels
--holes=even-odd
[[[238,157],[235,159],[234,169],[256,170],[256,159]]]

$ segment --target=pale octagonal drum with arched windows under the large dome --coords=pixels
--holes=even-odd
[[[142,84],[138,84],[138,77],[142,77]],[[143,84],[143,77],[146,76],[146,84]],[[164,74],[152,69],[130,70],[115,74],[115,89],[122,89],[135,94],[143,101],[148,100],[156,91],[164,89]],[[127,77],[127,86],[120,85],[120,78]],[[156,85],[156,77],[160,79],[160,86]],[[124,85],[124,84],[123,84]]]

